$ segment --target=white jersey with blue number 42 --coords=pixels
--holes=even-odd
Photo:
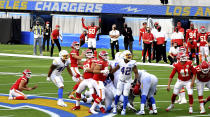
[[[120,76],[119,79],[125,82],[132,81],[132,71],[133,67],[136,66],[135,60],[130,60],[128,63],[125,63],[124,59],[119,61],[120,66]]]

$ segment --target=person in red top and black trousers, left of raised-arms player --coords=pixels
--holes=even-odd
[[[60,26],[59,25],[56,25],[55,26],[55,29],[52,31],[52,34],[51,34],[51,43],[52,43],[51,53],[50,53],[50,56],[51,57],[53,56],[54,44],[57,45],[59,52],[61,51],[61,46],[60,46],[58,37],[59,36],[62,37],[62,36],[61,36],[59,30],[60,30]],[[60,40],[61,40],[61,42],[63,42],[63,40],[61,38],[60,38]]]

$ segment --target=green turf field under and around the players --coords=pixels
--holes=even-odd
[[[69,48],[65,48],[69,50]],[[110,50],[107,50],[110,52]],[[29,45],[0,45],[0,53],[16,53],[16,54],[33,54],[33,46]],[[58,54],[57,48],[55,48],[54,55]],[[49,52],[44,52],[44,55],[49,55]],[[139,56],[140,55],[140,56]],[[141,52],[134,51],[134,59],[140,61]],[[30,95],[38,95],[38,96],[46,96],[46,97],[57,97],[57,87],[52,82],[46,81],[46,75],[48,73],[49,67],[52,63],[50,59],[36,59],[36,58],[23,58],[23,57],[7,57],[0,56],[0,93],[8,94],[9,88],[15,82],[17,78],[20,77],[21,72],[29,68],[32,71],[32,75],[34,75],[30,79],[29,86],[33,86],[38,84],[38,88],[36,90],[27,92],[24,91],[25,94]],[[171,67],[158,67],[158,66],[138,66],[139,69],[144,69],[149,73],[156,75],[159,79],[158,85],[167,85],[168,77],[172,70]],[[82,71],[81,71],[82,72]],[[71,91],[74,83],[71,82],[72,79],[65,70],[62,74],[64,78],[64,98],[67,98],[67,94]],[[174,84],[176,81],[176,76],[173,80]],[[175,104],[174,110],[171,112],[166,112],[165,109],[170,104],[172,90],[170,92],[166,91],[166,87],[158,87],[157,95],[155,96],[158,107],[158,115],[157,117],[175,117],[175,116],[200,116],[199,114],[199,103],[197,100],[197,91],[194,90],[194,113],[188,114],[188,104]],[[204,97],[210,95],[209,90],[204,92]],[[188,97],[187,97],[188,99]],[[1,103],[0,97],[0,103]],[[30,101],[30,100],[28,100]],[[135,99],[135,107],[139,109],[140,98],[136,97]],[[45,103],[45,102],[43,102]],[[210,117],[210,110],[208,109],[210,103],[208,103],[206,107],[206,114],[202,116]],[[72,106],[73,107],[73,106]],[[70,110],[71,106],[66,107]],[[79,113],[79,112],[78,112]],[[120,112],[119,112],[120,113]],[[45,117],[49,116],[46,113],[43,113],[38,110],[29,109],[29,108],[21,108],[17,110],[8,109],[5,107],[0,107],[0,117],[1,116],[13,116],[13,117]],[[82,116],[82,115],[81,115]],[[118,116],[118,115],[117,115]],[[127,116],[136,116],[132,111],[127,111]],[[153,115],[145,115],[147,117]]]

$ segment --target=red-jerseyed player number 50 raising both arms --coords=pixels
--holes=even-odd
[[[99,19],[99,26],[95,26],[94,22],[92,22],[90,26],[85,26],[84,21],[85,19],[82,18],[82,27],[88,30],[88,48],[92,49],[94,54],[96,54],[96,34],[97,31],[100,29],[101,19]]]

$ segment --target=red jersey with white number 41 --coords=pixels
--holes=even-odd
[[[180,62],[173,64],[174,68],[169,78],[173,78],[176,72],[178,72],[178,79],[182,81],[188,81],[192,78],[192,74],[196,74],[196,71],[192,65],[192,61],[188,60],[184,65]]]

